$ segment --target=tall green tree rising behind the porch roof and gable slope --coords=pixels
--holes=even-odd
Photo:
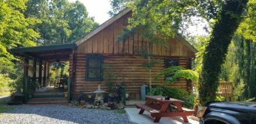
[[[25,15],[42,21],[34,26],[41,34],[38,45],[73,43],[98,26],[79,1],[30,0],[26,5]]]

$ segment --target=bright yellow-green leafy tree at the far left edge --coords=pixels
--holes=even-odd
[[[13,47],[35,46],[33,40],[39,37],[31,26],[40,21],[35,18],[25,18],[27,1],[0,2],[0,73],[15,75],[14,57],[7,49]]]

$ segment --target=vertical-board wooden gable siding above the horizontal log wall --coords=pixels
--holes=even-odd
[[[147,39],[141,38],[141,32],[124,42],[115,43],[114,40],[123,31],[128,24],[128,18],[132,16],[131,9],[125,9],[97,29],[93,30],[83,39],[78,40],[78,53],[95,53],[95,54],[126,54],[139,55],[138,49],[145,48]],[[182,36],[175,34],[175,38],[166,41],[169,46],[165,49],[163,46],[153,45],[151,52],[160,56],[190,56],[194,57],[197,49],[190,45]]]

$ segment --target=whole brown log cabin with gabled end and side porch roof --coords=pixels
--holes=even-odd
[[[131,16],[131,10],[125,9],[73,44],[13,48],[10,51],[24,57],[25,63],[28,60],[34,60],[34,63],[39,61],[39,69],[44,64],[44,77],[49,76],[48,65],[56,60],[56,56],[60,61],[69,61],[70,92],[74,99],[80,92],[93,92],[99,84],[102,90],[108,91],[107,80],[103,78],[105,64],[113,68],[117,76],[113,78],[115,83],[125,85],[131,99],[140,99],[140,86],[149,84],[149,72],[142,67],[147,59],[142,59],[138,49],[145,47],[147,40],[137,32],[126,41],[115,43]],[[152,79],[164,68],[173,65],[191,69],[191,60],[198,52],[179,34],[167,40],[166,44],[169,46],[167,49],[157,45],[150,48],[154,59],[161,60],[152,69]],[[24,75],[28,76],[26,67]],[[39,78],[43,79],[42,86],[45,86],[46,78],[42,78],[42,70],[39,70]],[[163,86],[163,80],[152,80],[152,85]],[[167,86],[191,90],[190,82],[182,78]]]

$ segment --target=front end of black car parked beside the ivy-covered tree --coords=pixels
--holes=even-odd
[[[256,102],[212,102],[206,107],[200,124],[256,124]]]

